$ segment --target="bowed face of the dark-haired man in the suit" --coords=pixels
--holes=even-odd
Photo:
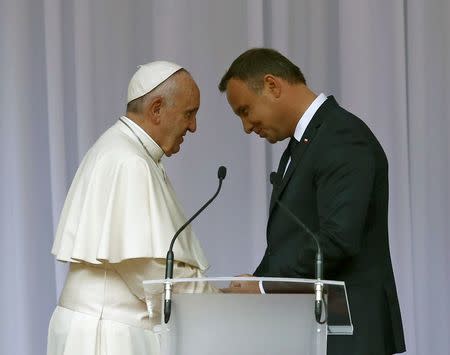
[[[270,91],[264,87],[255,92],[239,79],[230,79],[227,85],[227,99],[234,113],[242,121],[244,131],[255,132],[261,138],[275,143],[286,138],[280,110]]]

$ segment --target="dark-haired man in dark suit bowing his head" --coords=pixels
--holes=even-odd
[[[313,93],[300,69],[271,49],[241,54],[219,89],[246,133],[270,143],[290,138],[272,191],[267,249],[254,275],[314,278],[314,240],[279,199],[316,234],[324,278],[347,287],[354,334],[328,337],[328,354],[404,352],[389,252],[388,162],[378,140],[332,96]]]

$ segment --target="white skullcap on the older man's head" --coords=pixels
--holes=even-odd
[[[183,69],[178,64],[165,61],[143,64],[138,68],[128,84],[127,103],[149,93],[178,70]]]

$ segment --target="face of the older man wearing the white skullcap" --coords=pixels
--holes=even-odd
[[[167,156],[180,151],[186,133],[197,129],[196,115],[200,107],[200,91],[194,80],[185,75],[179,79],[172,102],[161,117],[163,138],[161,147]]]

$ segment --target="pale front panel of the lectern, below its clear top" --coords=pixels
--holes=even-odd
[[[175,295],[167,353],[326,354],[312,303],[312,295]]]

